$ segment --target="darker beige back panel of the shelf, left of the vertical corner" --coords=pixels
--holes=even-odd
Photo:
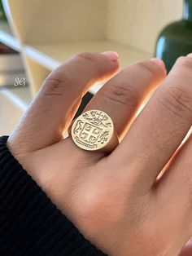
[[[106,0],[3,0],[22,42],[58,43],[105,37]]]

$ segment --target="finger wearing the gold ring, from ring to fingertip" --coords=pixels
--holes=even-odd
[[[107,113],[114,122],[120,139],[143,99],[166,75],[164,63],[159,59],[133,64],[112,77],[90,100],[85,111],[98,109]]]

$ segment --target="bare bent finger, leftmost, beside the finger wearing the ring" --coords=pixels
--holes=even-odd
[[[12,148],[20,145],[20,151],[34,151],[63,139],[63,130],[68,129],[82,96],[94,82],[111,77],[118,67],[116,53],[105,52],[81,53],[56,68],[8,139]]]

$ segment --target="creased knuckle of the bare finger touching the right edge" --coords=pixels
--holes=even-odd
[[[185,121],[191,121],[192,95],[181,85],[168,86],[159,90],[158,99],[168,111]]]

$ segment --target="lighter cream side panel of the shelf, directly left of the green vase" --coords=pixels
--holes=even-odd
[[[159,31],[181,18],[182,0],[108,0],[107,38],[152,53]]]

